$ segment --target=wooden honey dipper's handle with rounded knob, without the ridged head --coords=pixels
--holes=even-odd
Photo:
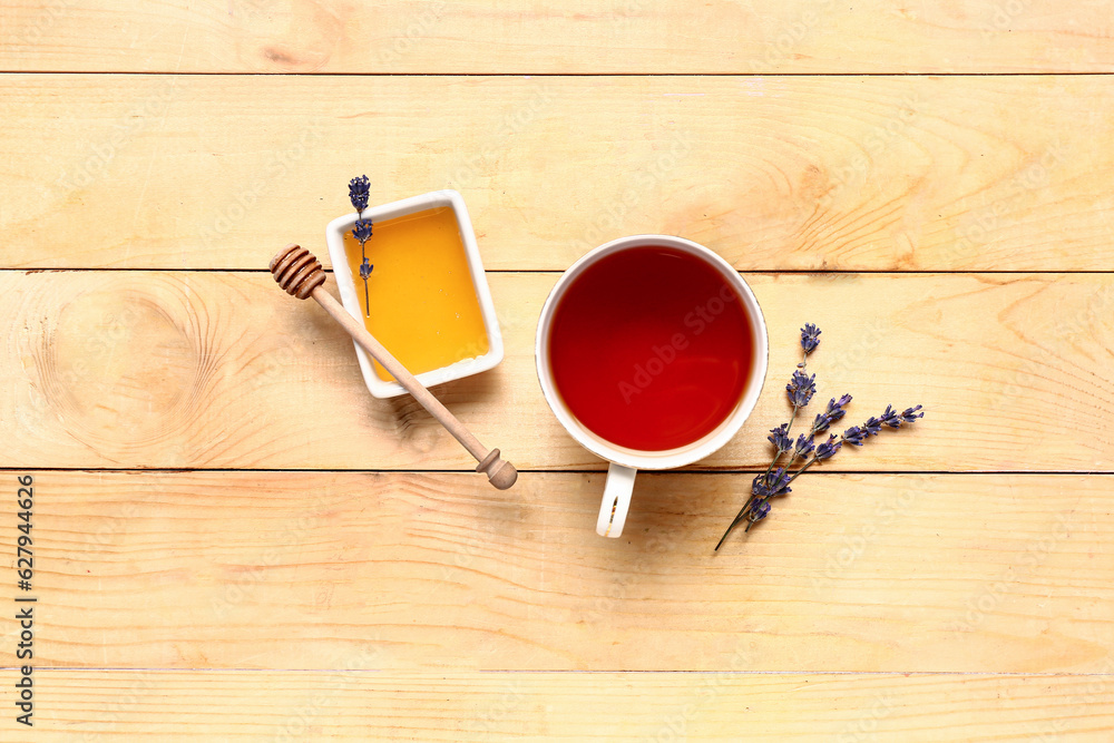
[[[436,418],[441,426],[448,429],[449,433],[453,436],[457,441],[468,450],[479,466],[476,468],[477,472],[485,472],[491,485],[499,488],[500,490],[506,490],[510,486],[515,485],[515,480],[518,479],[518,472],[515,470],[514,465],[499,458],[499,450],[488,449],[480,443],[479,439],[472,436],[472,432],[465,428],[456,416],[449,412],[449,409],[441,404],[441,401],[433,397],[433,394],[427,390],[421,382],[419,382],[413,374],[411,374],[405,366],[399,362],[391,352],[383,348],[383,344],[375,340],[375,336],[368,332],[368,329],[363,326],[362,323],[358,322],[348,311],[341,305],[340,302],[333,299],[333,295],[325,291],[323,286],[316,286],[310,294],[314,300],[317,301],[325,312],[332,315],[333,320],[340,323],[341,327],[348,331],[348,334],[360,344],[364,351],[371,354],[371,356],[383,365],[383,369],[389,371],[391,375],[398,380],[407,392],[409,392],[414,400],[421,403],[421,407],[429,411],[429,414]]]

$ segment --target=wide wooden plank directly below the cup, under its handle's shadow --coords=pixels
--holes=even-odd
[[[39,668],[1114,672],[1111,476],[33,477]]]

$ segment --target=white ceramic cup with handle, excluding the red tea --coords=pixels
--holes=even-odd
[[[620,447],[603,439],[584,427],[573,416],[557,392],[549,363],[549,331],[553,325],[554,311],[569,284],[596,261],[619,251],[646,245],[662,245],[684,251],[691,255],[695,255],[719,271],[743,303],[753,338],[753,362],[750,375],[743,388],[742,397],[735,402],[735,407],[731,413],[720,426],[701,439],[683,447],[664,451],[641,451]],[[554,286],[553,292],[549,293],[549,299],[546,300],[545,306],[541,309],[541,317],[538,321],[535,359],[537,360],[538,380],[541,382],[541,391],[546,395],[546,402],[549,403],[554,414],[557,416],[557,420],[560,421],[561,426],[585,449],[610,462],[607,468],[607,482],[604,486],[604,499],[599,506],[599,519],[596,521],[596,534],[603,537],[618,537],[623,534],[623,525],[631,508],[631,493],[634,489],[634,477],[637,470],[663,470],[691,465],[710,456],[731,440],[731,437],[735,434],[743,424],[743,421],[746,420],[746,417],[751,414],[754,404],[758,402],[759,394],[762,392],[762,383],[765,380],[766,364],[769,362],[768,355],[769,346],[765,321],[762,317],[762,310],[759,309],[759,303],[754,299],[750,286],[746,285],[746,282],[739,275],[739,272],[732,268],[726,261],[703,245],[692,241],[668,235],[632,235],[631,237],[620,237],[589,251],[561,275],[557,281],[557,285]]]

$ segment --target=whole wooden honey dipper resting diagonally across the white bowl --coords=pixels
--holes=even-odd
[[[340,323],[341,327],[346,330],[348,334],[360,344],[360,348],[381,363],[383,369],[389,371],[399,381],[399,384],[405,388],[407,392],[413,395],[413,399],[420,402],[422,408],[428,410],[468,450],[468,453],[476,458],[476,461],[479,462],[476,467],[477,472],[486,472],[491,485],[500,490],[506,490],[515,485],[515,480],[518,479],[518,470],[515,469],[515,466],[500,459],[498,449],[489,451],[485,448],[479,439],[472,436],[471,431],[465,428],[465,424],[441,404],[440,400],[422,387],[422,383],[407,371],[407,368],[392,356],[362,323],[356,322],[341,303],[323,289],[325,272],[313,253],[300,245],[287,245],[271,260],[271,273],[278,285],[291,296],[296,296],[300,300],[312,296],[316,300],[317,304],[324,307],[325,312],[332,315],[333,320]]]

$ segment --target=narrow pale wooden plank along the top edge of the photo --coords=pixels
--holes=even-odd
[[[1101,2],[106,0],[4,4],[0,69],[136,72],[1110,71]]]

